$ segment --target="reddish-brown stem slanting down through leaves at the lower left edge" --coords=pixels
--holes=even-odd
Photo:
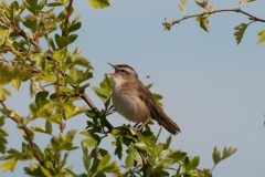
[[[4,104],[2,101],[1,101],[0,103],[1,103],[1,105],[2,105],[2,107],[3,107],[4,110],[8,110],[8,107],[6,106],[6,104]],[[8,117],[10,117],[10,118],[11,118],[13,122],[15,122],[17,124],[19,123],[19,119],[18,119],[18,118],[15,118],[15,117],[13,117],[13,116],[8,116]],[[29,128],[28,128],[26,126],[23,126],[22,129],[24,131],[24,133],[25,133],[25,135],[26,135],[26,137],[28,137],[28,139],[29,139],[30,146],[31,146],[32,148],[34,148],[35,145],[34,145],[33,139],[32,139],[32,137],[31,137],[31,135],[30,135]],[[32,152],[32,154],[33,154],[34,157],[38,159],[38,162],[39,162],[42,166],[44,166],[44,163],[43,163],[42,157],[41,157],[39,154],[35,154],[34,152]]]

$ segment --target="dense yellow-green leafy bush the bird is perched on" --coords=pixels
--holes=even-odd
[[[206,2],[197,3],[210,14],[214,8],[206,8]],[[246,1],[241,3],[244,2]],[[110,6],[107,0],[89,0],[89,3],[93,8]],[[29,166],[24,167],[24,173],[40,177],[104,177],[106,174],[116,176],[173,174],[174,177],[210,177],[212,171],[209,168],[202,170],[198,168],[199,156],[190,157],[180,149],[170,149],[171,136],[166,143],[158,143],[160,132],[158,135],[153,134],[150,128],[151,122],[142,132],[135,132],[125,125],[113,127],[107,121],[107,116],[115,112],[110,103],[112,80],[106,75],[99,87],[92,87],[105,106],[99,111],[93,104],[85,93],[89,80],[93,79],[93,66],[85,56],[81,55],[81,48],[73,51],[68,49],[78,38],[76,31],[82,27],[80,14],[70,20],[74,14],[72,4],[73,0],[53,2],[23,0],[21,4],[18,1],[11,4],[2,1],[0,6],[0,103],[2,106],[0,168],[3,171],[13,171],[19,162],[26,160]],[[186,0],[181,1],[180,8],[184,13]],[[209,29],[206,18],[205,14],[198,18],[205,31]],[[41,46],[41,40],[47,42],[47,48]],[[263,41],[262,38],[261,42]],[[29,105],[28,116],[19,115],[6,105],[4,101],[11,96],[11,93],[3,87],[7,84],[11,84],[18,91],[21,84],[30,84],[30,93],[34,102]],[[147,87],[150,88],[151,84]],[[153,94],[153,97],[161,105],[159,101],[162,96]],[[86,105],[75,104],[75,101],[81,98]],[[84,136],[81,146],[73,143],[76,129],[64,132],[67,121],[78,114],[86,114],[88,117],[86,131],[80,132]],[[15,149],[17,147],[7,149],[9,134],[3,129],[6,118],[11,118],[14,127],[21,129],[21,137],[24,138],[21,149]],[[44,118],[45,125],[29,127],[29,124],[38,118]],[[54,125],[59,125],[59,133],[54,133]],[[51,137],[44,148],[34,143],[35,133]],[[105,137],[113,138],[114,155],[124,162],[125,169],[118,166],[108,150],[102,148],[100,143]],[[70,152],[78,147],[83,150],[83,164],[86,170],[83,174],[74,171],[74,164],[66,166]],[[221,156],[219,148],[214,147],[213,167],[235,150],[235,148],[224,148]]]

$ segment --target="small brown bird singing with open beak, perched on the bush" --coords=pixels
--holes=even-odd
[[[107,73],[113,77],[113,106],[128,121],[142,123],[135,131],[141,131],[150,119],[155,119],[172,135],[181,133],[179,126],[157,104],[151,92],[141,83],[131,66],[108,64],[115,70],[114,73]]]

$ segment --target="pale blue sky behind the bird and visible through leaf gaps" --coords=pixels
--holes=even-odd
[[[106,64],[129,64],[145,83],[153,83],[155,93],[165,96],[165,111],[181,127],[173,137],[172,148],[181,148],[190,156],[200,155],[200,168],[211,168],[212,150],[216,145],[236,147],[237,152],[214,169],[214,177],[265,176],[265,60],[264,44],[257,45],[257,33],[263,23],[253,23],[240,45],[233,37],[235,25],[247,23],[247,17],[234,12],[219,13],[210,18],[210,33],[199,28],[195,19],[182,21],[170,32],[165,32],[163,18],[182,17],[180,0],[110,1],[104,10],[92,9],[87,0],[74,1],[75,12],[82,13],[83,27],[72,45],[83,46],[82,54],[95,67],[92,85],[98,85],[103,74],[113,69]],[[218,9],[232,9],[239,0],[210,0]],[[265,19],[265,1],[257,0],[243,6],[242,10]],[[187,14],[202,12],[194,1],[188,0]],[[146,79],[150,75],[149,79]],[[13,91],[13,90],[12,90]],[[88,87],[86,93],[100,108],[103,104]],[[29,83],[14,92],[7,106],[28,115]],[[109,122],[115,126],[128,124],[118,114]],[[41,121],[42,123],[43,121]],[[40,124],[36,122],[35,124]],[[66,129],[85,128],[86,116],[68,121]],[[159,128],[159,126],[152,126]],[[14,129],[9,147],[21,147],[19,131],[11,121],[6,129]],[[56,126],[54,126],[54,129]],[[160,140],[168,136],[162,131]],[[76,145],[83,137],[76,136]],[[44,148],[49,136],[38,135],[35,140]],[[109,140],[103,148],[109,148]],[[110,148],[109,148],[110,149]],[[78,153],[77,153],[78,152]],[[109,150],[113,154],[113,149]],[[81,150],[70,154],[75,171],[84,171]],[[18,176],[15,173],[1,176]]]

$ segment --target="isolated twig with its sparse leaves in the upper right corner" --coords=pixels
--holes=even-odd
[[[241,43],[243,37],[244,37],[244,33],[245,33],[245,30],[246,28],[252,24],[253,22],[265,22],[265,20],[263,19],[259,19],[255,15],[252,15],[250,13],[246,13],[245,11],[241,10],[241,7],[243,4],[245,4],[246,2],[253,2],[255,0],[240,0],[240,4],[237,7],[235,7],[234,9],[222,9],[222,10],[216,10],[215,7],[213,6],[208,6],[208,2],[209,0],[202,0],[201,2],[195,0],[195,3],[200,7],[200,8],[203,8],[204,11],[202,13],[199,13],[199,14],[193,14],[193,15],[186,15],[186,4],[187,4],[187,0],[181,0],[179,7],[180,7],[180,10],[183,12],[183,18],[182,19],[178,19],[178,20],[173,20],[173,21],[168,21],[167,19],[165,19],[165,31],[170,31],[171,27],[173,27],[174,24],[179,23],[180,21],[182,20],[187,20],[187,19],[190,19],[190,18],[197,18],[197,21],[199,22],[200,27],[209,32],[209,17],[214,14],[214,13],[219,13],[219,12],[225,12],[225,11],[233,11],[233,12],[237,12],[237,13],[242,13],[242,14],[245,14],[248,17],[248,20],[251,22],[248,22],[247,24],[246,23],[241,23],[240,25],[236,25],[234,28],[235,33],[235,40],[237,42],[237,44]],[[265,32],[264,30],[261,31],[258,33],[259,35],[259,39],[257,41],[257,43],[262,43],[262,42],[265,42]]]

